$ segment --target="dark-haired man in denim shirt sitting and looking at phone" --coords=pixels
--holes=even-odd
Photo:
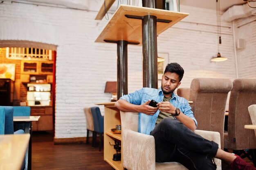
[[[214,141],[193,132],[197,121],[188,101],[173,93],[183,74],[180,64],[170,63],[161,88],[142,88],[124,95],[115,107],[139,113],[138,132],[155,138],[156,162],[179,162],[189,170],[216,170],[213,161],[216,157],[228,163],[231,170],[256,170],[239,156],[221,150]],[[155,107],[151,100],[157,102]]]

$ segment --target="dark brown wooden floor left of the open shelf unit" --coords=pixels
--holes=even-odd
[[[53,144],[53,132],[33,132],[32,170],[114,170],[90,144]]]

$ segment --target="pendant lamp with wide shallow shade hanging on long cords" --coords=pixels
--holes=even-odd
[[[217,13],[217,36],[218,36],[218,54],[217,57],[211,59],[212,62],[226,61],[226,57],[220,55],[220,44],[221,44],[221,22],[220,22],[220,0],[216,0],[216,13]]]

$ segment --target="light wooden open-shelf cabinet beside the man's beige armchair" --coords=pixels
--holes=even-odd
[[[115,134],[111,132],[112,128],[116,125],[121,125],[120,111],[115,108],[115,102],[99,103],[98,105],[104,105],[104,160],[107,161],[115,170],[124,170],[123,167],[123,155],[121,161],[113,161],[113,155],[116,152],[114,146],[115,140],[122,141],[121,134]],[[121,151],[122,152],[122,151]]]

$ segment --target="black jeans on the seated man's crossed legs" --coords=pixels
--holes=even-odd
[[[165,118],[150,133],[156,162],[179,162],[189,170],[216,170],[218,144],[204,139],[177,119]]]

